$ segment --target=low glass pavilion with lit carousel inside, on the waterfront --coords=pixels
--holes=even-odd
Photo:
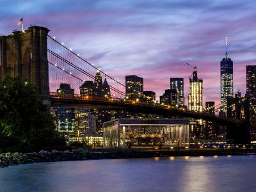
[[[189,121],[184,119],[115,119],[103,125],[104,147],[189,146]]]

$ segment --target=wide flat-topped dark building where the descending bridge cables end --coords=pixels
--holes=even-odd
[[[143,78],[138,76],[125,76],[125,95],[129,99],[143,98]]]

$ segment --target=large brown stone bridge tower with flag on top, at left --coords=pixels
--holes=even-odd
[[[0,81],[20,76],[33,83],[45,104],[49,104],[47,34],[49,29],[31,26],[0,36]]]

